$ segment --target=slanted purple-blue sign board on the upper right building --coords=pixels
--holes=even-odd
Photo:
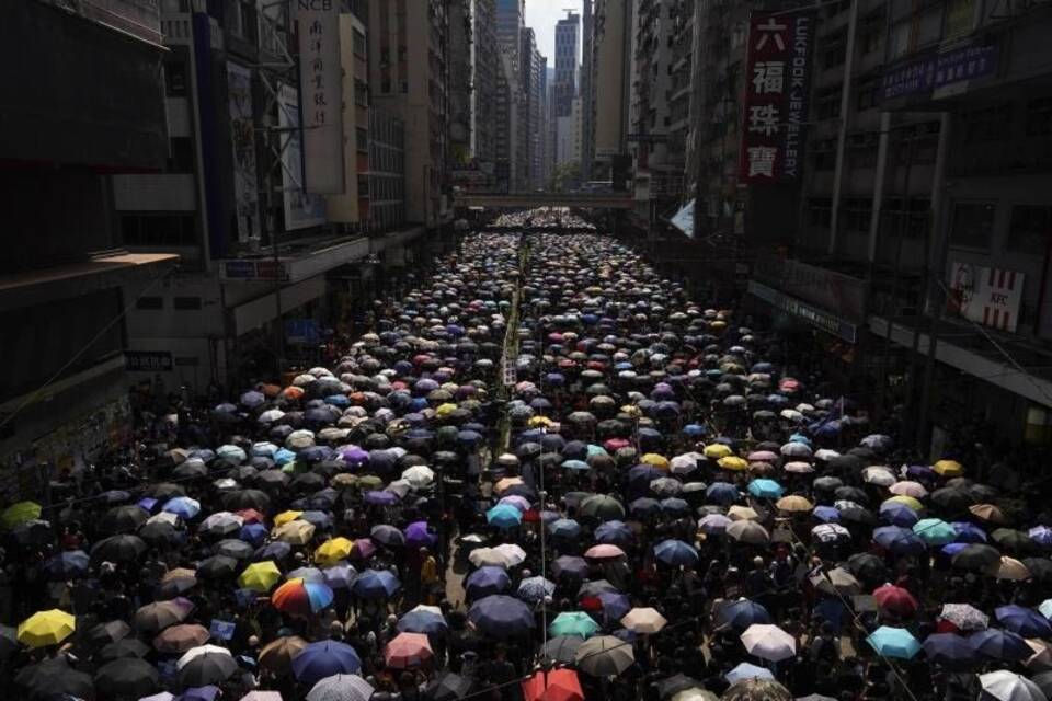
[[[997,70],[997,46],[965,46],[892,68],[881,79],[882,100],[930,94]]]

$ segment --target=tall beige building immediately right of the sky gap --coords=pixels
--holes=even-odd
[[[592,180],[611,180],[615,160],[628,154],[633,7],[631,0],[597,0],[595,3]]]

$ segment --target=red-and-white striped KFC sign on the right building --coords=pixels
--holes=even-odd
[[[947,306],[950,313],[1015,333],[1024,274],[953,261]]]

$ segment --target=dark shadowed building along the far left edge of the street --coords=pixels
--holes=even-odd
[[[174,154],[157,3],[31,0],[3,15],[19,65],[0,94],[0,501],[49,507],[61,471],[133,440],[133,384],[171,371],[171,354],[127,352],[126,314],[167,288],[194,217],[148,226],[156,248],[132,252],[113,210],[114,173],[150,173],[161,197],[173,184],[159,176]]]

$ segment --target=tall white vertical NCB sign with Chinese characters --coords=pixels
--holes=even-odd
[[[304,115],[304,188],[343,192],[343,72],[340,1],[296,0]]]

